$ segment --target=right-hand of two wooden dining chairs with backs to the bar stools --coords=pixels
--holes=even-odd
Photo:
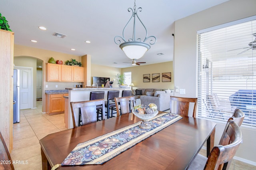
[[[115,103],[117,116],[131,113],[131,108],[135,106],[134,96],[115,97]],[[120,110],[118,109],[118,105],[120,105]]]

